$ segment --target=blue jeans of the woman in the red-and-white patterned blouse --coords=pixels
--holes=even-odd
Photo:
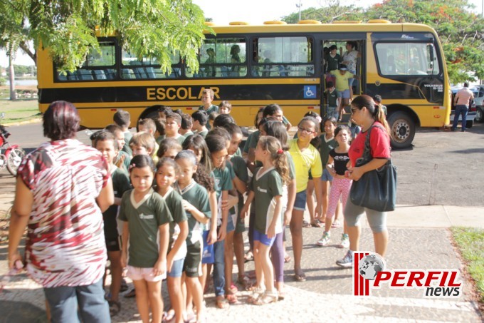
[[[43,293],[51,308],[52,322],[111,322],[102,278],[85,286],[44,288]]]

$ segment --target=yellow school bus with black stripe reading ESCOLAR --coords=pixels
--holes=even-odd
[[[377,20],[211,27],[216,34],[206,34],[199,49],[199,71],[175,52],[172,71],[162,71],[156,60],[137,59],[115,37],[99,38],[100,52],[93,51],[83,66],[67,74],[58,73],[48,51],[39,49],[40,111],[52,101],[70,101],[79,109],[82,125],[103,128],[118,109],[129,111],[132,122],[156,116],[154,105],[192,113],[201,104],[201,91],[211,88],[214,104],[232,103],[238,125],[253,125],[258,109],[270,103],[278,103],[297,124],[308,111],[325,114],[325,53],[350,41],[359,52],[354,96],[382,96],[394,148],[411,145],[416,127],[449,123],[446,63],[429,26]]]

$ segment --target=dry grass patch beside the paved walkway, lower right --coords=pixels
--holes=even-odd
[[[452,235],[465,261],[467,271],[484,303],[484,230],[473,227],[452,227]]]

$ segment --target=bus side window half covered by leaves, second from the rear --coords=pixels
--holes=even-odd
[[[172,71],[162,71],[156,58],[143,57],[138,59],[130,51],[122,50],[121,53],[121,78],[126,79],[149,79],[149,78],[179,78],[181,76],[181,64],[179,53],[171,53]]]

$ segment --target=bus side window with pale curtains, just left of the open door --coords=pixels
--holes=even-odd
[[[312,39],[304,36],[254,39],[252,76],[314,76]]]

